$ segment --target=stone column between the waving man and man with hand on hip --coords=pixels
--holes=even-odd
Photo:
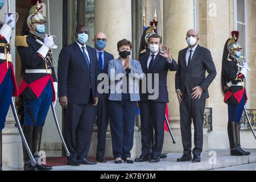
[[[169,0],[163,2],[163,43],[171,48],[171,55],[176,61],[179,51],[188,46],[185,40],[187,31],[194,28],[193,7],[193,0]],[[175,90],[175,73],[176,72],[168,73],[168,92],[170,100],[168,111],[176,144],[172,144],[170,134],[166,133],[163,152],[183,151],[180,133],[179,102],[177,101]]]

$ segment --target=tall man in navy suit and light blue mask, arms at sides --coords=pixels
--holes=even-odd
[[[64,139],[71,156],[68,164],[96,164],[86,157],[92,138],[97,97],[97,57],[86,46],[88,30],[76,29],[76,42],[64,47],[59,56],[58,78],[60,105],[64,109]]]

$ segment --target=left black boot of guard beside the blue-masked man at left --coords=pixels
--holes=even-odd
[[[34,126],[23,126],[23,133],[27,140],[28,147],[30,147],[30,150],[32,149],[33,130],[34,130]],[[31,165],[31,160],[27,154],[27,150],[24,147],[24,144],[22,144],[22,148],[23,148],[24,171],[35,171],[36,167]]]

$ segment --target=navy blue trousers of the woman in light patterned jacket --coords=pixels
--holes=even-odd
[[[137,102],[109,101],[110,129],[114,158],[130,158],[133,148]]]

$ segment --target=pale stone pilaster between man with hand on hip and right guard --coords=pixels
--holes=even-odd
[[[212,53],[217,76],[209,87],[207,107],[213,108],[213,132],[209,133],[209,148],[228,148],[228,107],[221,93],[222,53],[233,30],[233,1],[199,0],[199,35],[201,46]]]

